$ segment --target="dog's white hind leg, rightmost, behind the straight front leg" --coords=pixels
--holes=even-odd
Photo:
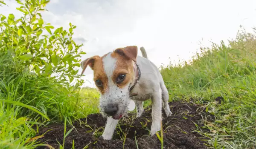
[[[163,100],[164,112],[166,113],[166,116],[172,115],[172,112],[168,104],[168,101],[169,101],[168,90],[166,89],[166,86],[164,85],[163,82],[160,83],[160,87],[162,89],[162,100]]]

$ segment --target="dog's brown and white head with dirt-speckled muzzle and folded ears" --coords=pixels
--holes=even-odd
[[[136,58],[137,46],[127,46],[81,62],[81,75],[87,66],[93,70],[95,85],[101,93],[99,107],[103,115],[120,119],[127,113],[129,87],[135,79]]]

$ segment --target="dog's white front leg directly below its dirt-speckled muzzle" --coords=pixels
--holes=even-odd
[[[105,140],[111,140],[113,133],[116,129],[116,125],[118,123],[118,120],[113,119],[112,117],[108,117],[107,124],[105,126],[104,132],[102,134],[102,137]]]

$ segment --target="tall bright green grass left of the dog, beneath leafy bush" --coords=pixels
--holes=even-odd
[[[97,112],[93,100],[83,97],[94,96],[97,102],[97,92],[82,91],[79,96],[79,90],[30,73],[8,53],[0,53],[0,148],[31,148],[36,134],[32,126],[62,122],[65,117],[72,123]]]

